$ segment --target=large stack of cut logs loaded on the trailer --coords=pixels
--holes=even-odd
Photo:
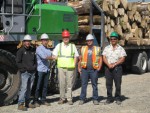
[[[127,0],[97,0],[105,14],[105,34],[112,31],[120,35],[120,45],[150,45],[150,2],[127,2]],[[90,31],[90,0],[69,2],[79,15],[80,33]],[[101,17],[94,13],[93,24],[100,25]]]

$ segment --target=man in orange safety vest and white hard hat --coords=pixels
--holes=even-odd
[[[78,71],[81,74],[81,94],[79,105],[85,103],[86,100],[86,90],[88,85],[88,79],[91,79],[93,87],[93,104],[98,105],[98,71],[102,67],[102,58],[100,47],[94,46],[94,37],[88,34],[86,37],[86,46],[82,46],[80,51],[80,61],[78,63]]]

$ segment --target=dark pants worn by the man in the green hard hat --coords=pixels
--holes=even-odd
[[[105,69],[106,88],[108,99],[112,98],[113,81],[115,83],[116,91],[115,98],[120,99],[121,96],[121,81],[122,81],[122,66],[116,66],[114,69]]]

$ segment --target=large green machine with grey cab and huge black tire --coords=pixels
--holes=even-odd
[[[20,74],[15,55],[17,45],[24,35],[30,34],[33,40],[39,40],[41,34],[47,33],[50,40],[57,44],[64,29],[70,31],[71,39],[77,37],[77,13],[65,3],[45,4],[42,0],[0,1],[0,105],[11,104],[17,99]],[[51,73],[54,77],[55,74]]]

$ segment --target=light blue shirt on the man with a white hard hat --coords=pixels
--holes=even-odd
[[[50,62],[49,60],[46,59],[46,57],[52,56],[51,50],[43,45],[38,46],[36,49],[36,56],[37,56],[37,70],[40,72],[49,71]]]

